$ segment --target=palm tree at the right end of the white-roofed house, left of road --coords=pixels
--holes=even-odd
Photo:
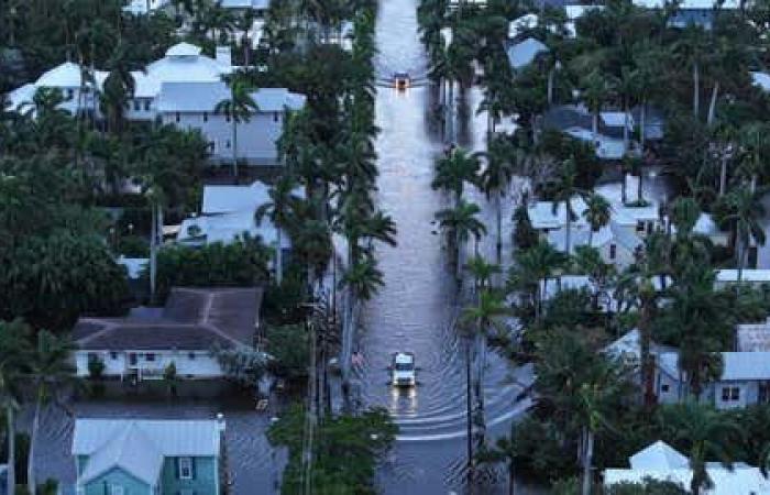
[[[270,188],[267,195],[270,201],[261,205],[254,213],[256,224],[261,224],[265,217],[268,217],[275,227],[276,248],[275,248],[275,282],[283,284],[284,265],[283,265],[283,232],[292,229],[296,221],[297,202],[299,198],[294,196],[294,190],[297,183],[289,174],[282,175],[273,187]]]

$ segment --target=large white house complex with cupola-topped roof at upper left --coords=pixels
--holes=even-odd
[[[135,90],[128,102],[125,118],[147,123],[160,120],[182,129],[200,130],[209,143],[212,161],[231,161],[235,146],[233,124],[230,116],[217,112],[216,108],[231,97],[222,78],[235,68],[228,47],[218,47],[216,58],[210,58],[196,45],[178,43],[145,70],[131,73]],[[89,112],[101,118],[98,94],[107,76],[107,72],[91,72],[67,62],[43,74],[35,82],[11,91],[11,108],[26,111],[38,88],[57,88],[66,98],[61,108],[74,114]],[[237,125],[238,157],[248,165],[278,165],[277,141],[283,133],[285,116],[301,109],[306,98],[286,88],[261,88],[251,97],[257,109]]]

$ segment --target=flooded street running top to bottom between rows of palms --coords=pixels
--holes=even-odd
[[[375,64],[380,78],[405,70],[418,79],[425,76],[416,8],[416,0],[380,3]],[[464,361],[454,328],[458,289],[432,222],[433,213],[450,202],[430,188],[433,160],[443,147],[431,119],[433,92],[427,86],[404,92],[381,87],[376,98],[376,124],[382,130],[376,142],[377,200],[398,226],[398,245],[378,249],[385,287],[364,310],[360,345],[366,365],[360,387],[364,404],[386,407],[400,428],[380,473],[386,494],[457,491],[465,462]],[[475,91],[468,95],[472,105],[477,97]],[[481,146],[484,133],[483,117],[458,129],[460,143],[472,148]],[[484,198],[472,199],[486,206]],[[488,226],[494,226],[492,217]],[[398,392],[388,385],[391,353],[399,350],[416,354],[420,370],[414,391]],[[486,404],[494,431],[507,431],[508,421],[522,409],[515,403],[521,388],[513,383],[512,373],[502,359],[491,356]]]

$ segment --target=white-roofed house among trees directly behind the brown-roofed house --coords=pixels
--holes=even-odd
[[[297,188],[294,196],[304,197]],[[184,245],[204,245],[213,242],[229,243],[245,234],[262,239],[273,248],[277,246],[278,229],[268,218],[256,222],[256,210],[271,201],[270,186],[255,180],[251,186],[204,186],[200,213],[182,222],[176,242]],[[282,231],[280,248],[288,255],[292,240]],[[287,258],[284,257],[285,260]]]

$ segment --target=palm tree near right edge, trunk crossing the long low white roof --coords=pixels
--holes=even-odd
[[[740,283],[746,263],[747,249],[751,241],[759,245],[765,245],[765,229],[761,220],[765,218],[765,206],[759,196],[746,188],[737,188],[728,196],[728,205],[733,210],[726,220],[735,222],[736,261],[738,266],[738,282]]]

